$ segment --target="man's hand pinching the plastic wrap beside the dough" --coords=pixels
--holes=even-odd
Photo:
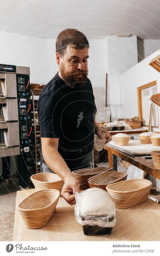
[[[62,197],[67,201],[68,204],[71,204],[71,205],[76,203],[74,195],[76,191],[79,192],[79,189],[80,189],[80,185],[77,179],[75,179],[74,176],[72,175],[64,179],[65,183],[63,185],[62,192],[61,192]]]

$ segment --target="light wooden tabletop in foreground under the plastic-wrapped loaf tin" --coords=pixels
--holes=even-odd
[[[16,206],[35,189],[17,191]],[[13,241],[160,241],[160,204],[147,202],[116,209],[116,226],[111,235],[86,236],[74,216],[74,206],[60,198],[46,226],[27,229],[16,208]]]

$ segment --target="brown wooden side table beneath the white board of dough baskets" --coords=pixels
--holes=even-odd
[[[113,167],[117,171],[117,156],[122,158],[122,160],[131,163],[134,166],[137,166],[144,172],[154,176],[157,179],[160,179],[160,170],[154,168],[152,159],[145,159],[145,156],[130,156],[118,149],[115,149],[109,145],[103,145],[103,148],[108,151],[108,166]]]

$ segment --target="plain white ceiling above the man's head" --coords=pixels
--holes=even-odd
[[[160,39],[160,0],[0,0],[0,17],[1,31],[43,38],[71,27],[89,38]]]

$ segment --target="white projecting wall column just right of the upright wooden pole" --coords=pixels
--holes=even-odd
[[[111,109],[111,121],[121,117],[121,88],[119,76],[138,63],[137,36],[107,36],[107,106]]]

